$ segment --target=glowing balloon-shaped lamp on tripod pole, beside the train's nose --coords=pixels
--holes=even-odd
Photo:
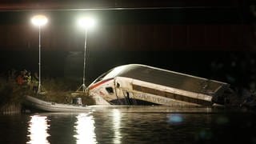
[[[86,92],[86,38],[87,38],[87,30],[89,30],[92,26],[95,25],[95,21],[93,18],[80,18],[78,19],[78,26],[82,27],[85,30],[85,50],[83,55],[83,75],[82,75],[82,86],[78,88],[77,91]]]

